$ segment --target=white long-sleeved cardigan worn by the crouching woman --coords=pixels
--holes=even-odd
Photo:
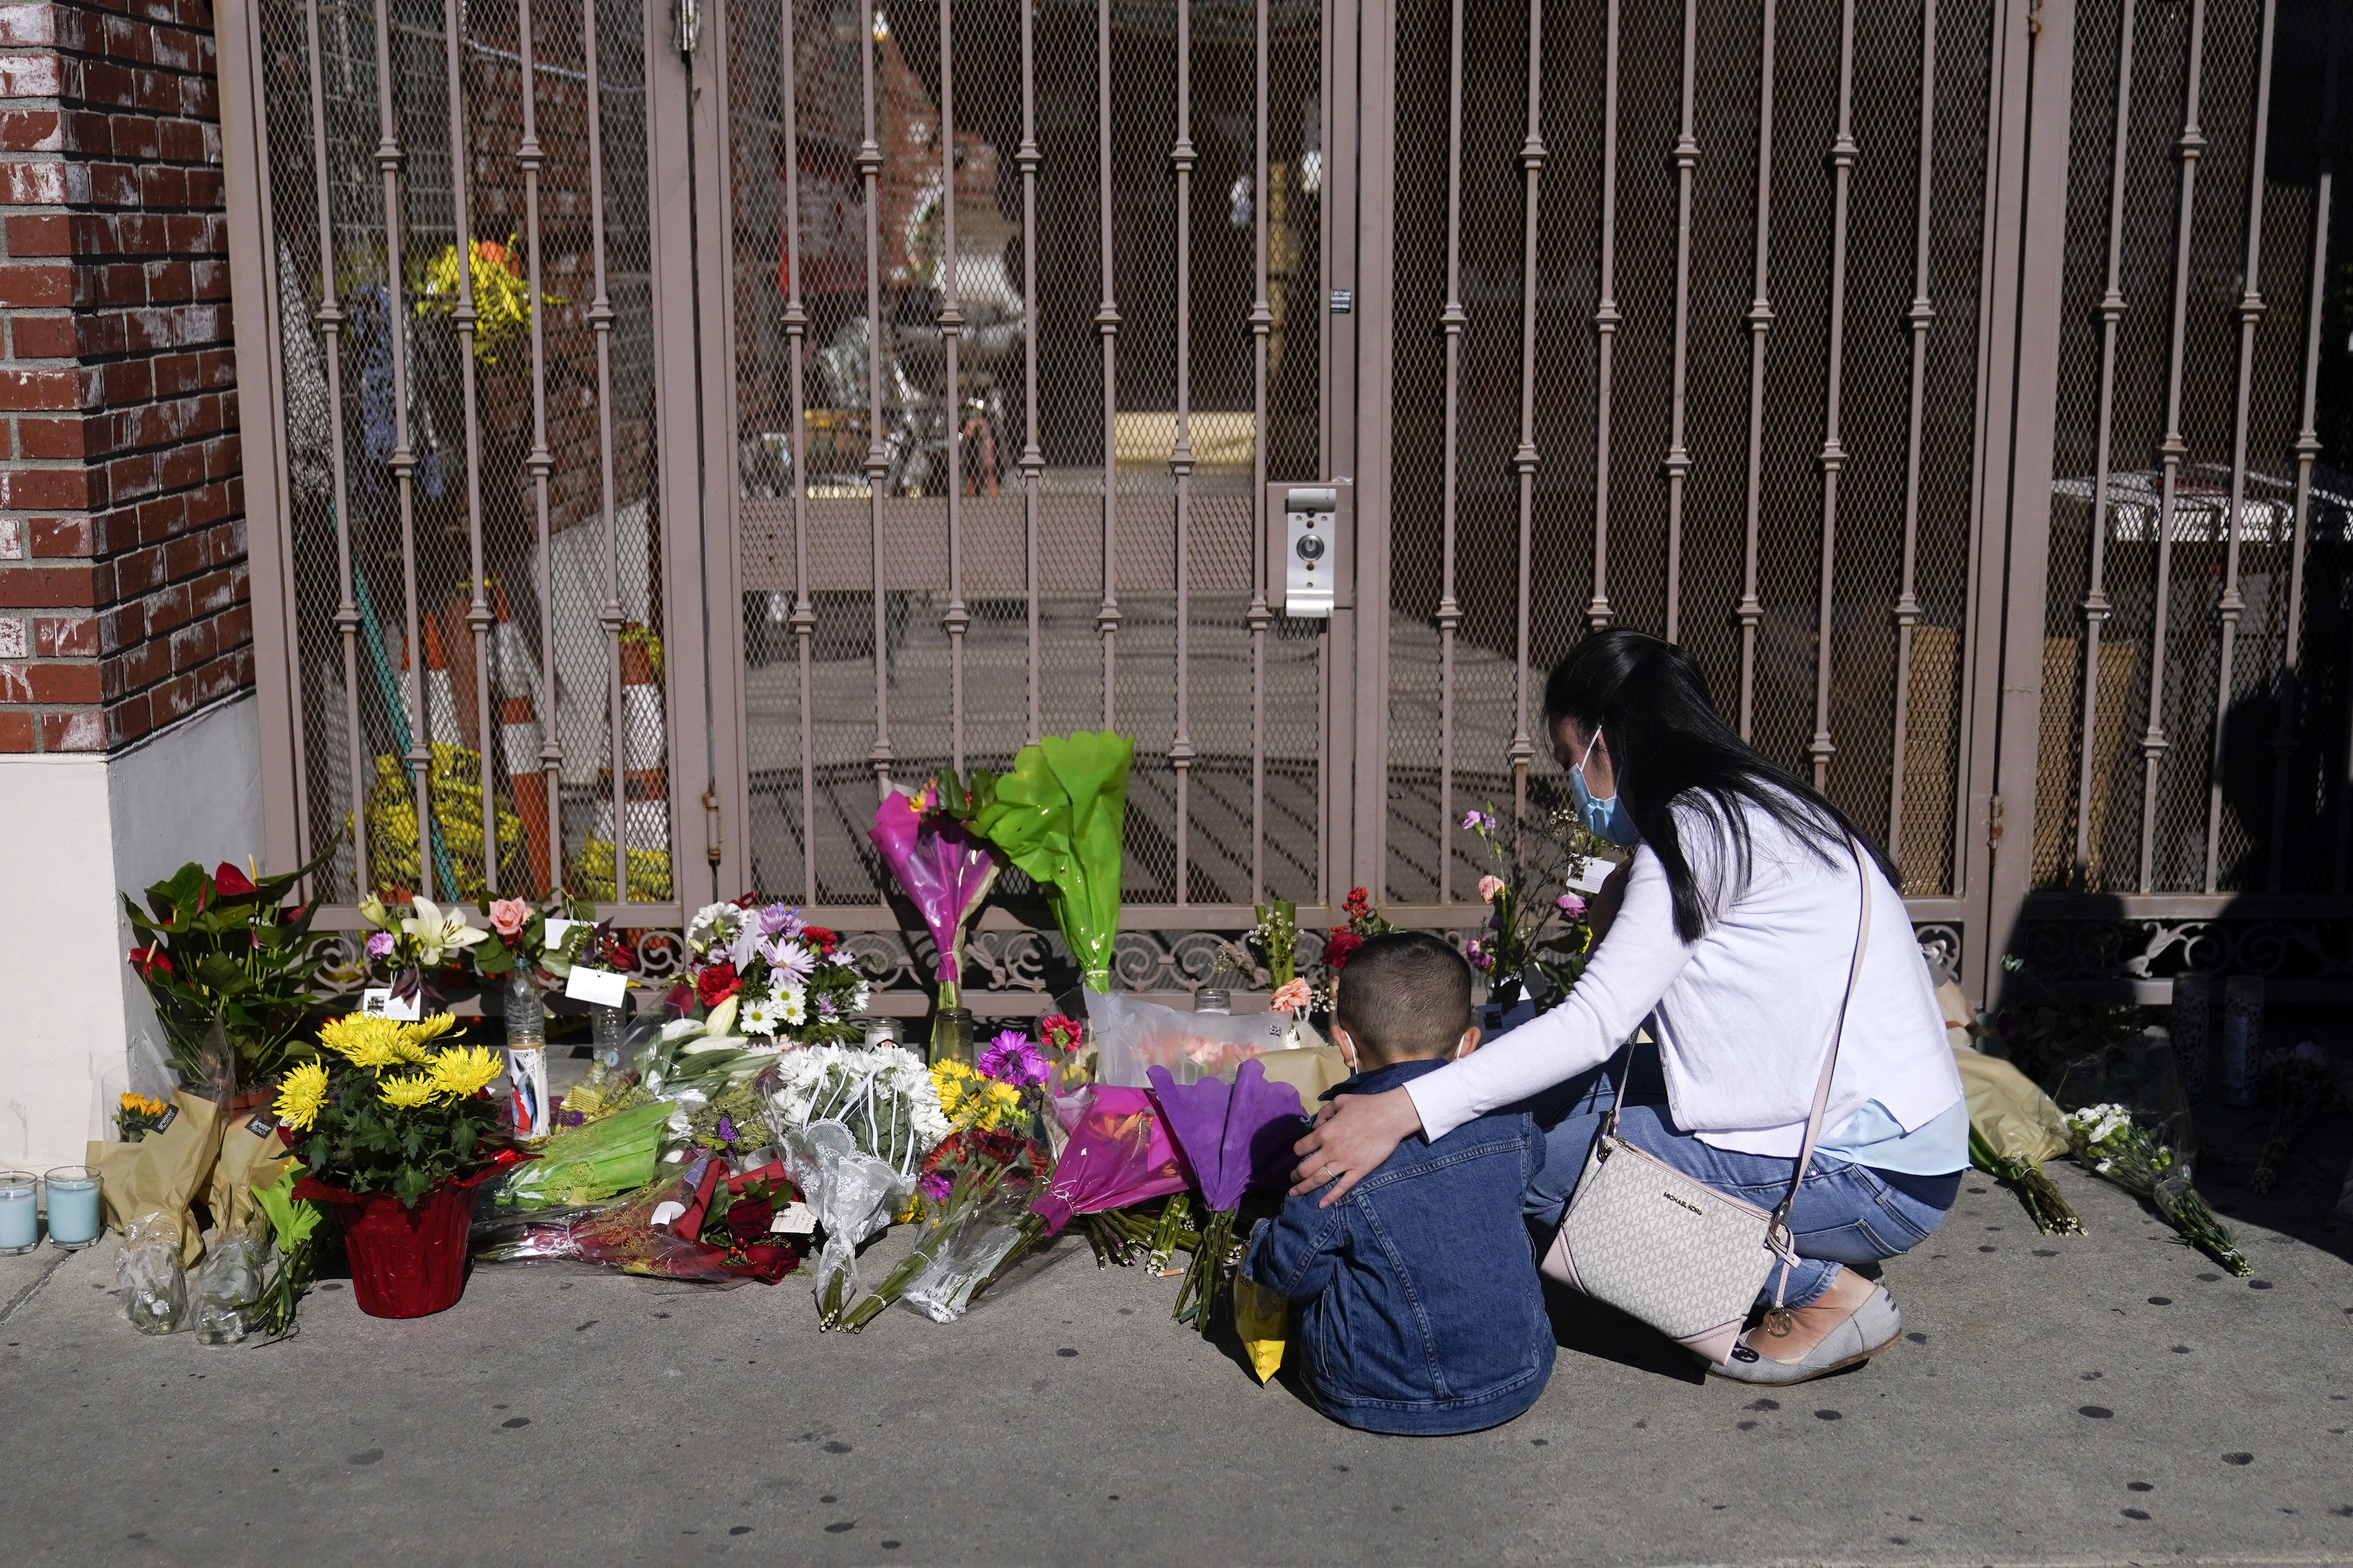
[[[1847,987],[1861,889],[1854,860],[1826,863],[1769,813],[1748,809],[1746,884],[1722,827],[1675,806],[1692,875],[1715,891],[1715,919],[1692,945],[1675,936],[1666,870],[1633,853],[1626,903],[1591,966],[1551,1013],[1473,1056],[1426,1072],[1407,1093],[1421,1128],[1442,1138],[1602,1063],[1645,1018],[1666,1067],[1675,1124],[1746,1154],[1795,1157],[1821,1077],[1831,1013]],[[1840,1037],[1824,1135],[1878,1100],[1906,1133],[1960,1100],[1960,1072],[1904,900],[1868,858],[1871,947]]]

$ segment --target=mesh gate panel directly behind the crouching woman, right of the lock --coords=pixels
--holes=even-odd
[[[1475,882],[1449,818],[1508,804],[1522,722],[1548,752],[1544,672],[1595,621],[1680,639],[1767,755],[1800,776],[1824,757],[1831,797],[1899,844],[1908,893],[1951,891],[1993,16],[1984,0],[1941,0],[1934,16],[1918,0],[1859,2],[1852,38],[1842,16],[1779,7],[1767,35],[1760,7],[1699,7],[1687,49],[1682,7],[1621,7],[1614,45],[1593,7],[1553,14],[1532,106],[1529,7],[1466,7],[1457,66],[1452,7],[1400,5],[1391,898]],[[1449,226],[1452,71],[1468,85]],[[1449,259],[1464,313],[1452,425]]]

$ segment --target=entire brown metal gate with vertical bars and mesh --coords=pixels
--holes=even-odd
[[[878,788],[1118,726],[1120,983],[1179,992],[1268,896],[1480,924],[1457,823],[1553,788],[1541,672],[1617,623],[1977,992],[2348,969],[2325,5],[221,19],[271,853],[329,903],[760,889],[918,1011]]]

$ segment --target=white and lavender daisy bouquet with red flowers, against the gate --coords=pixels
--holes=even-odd
[[[680,994],[685,992],[685,994]],[[687,922],[687,976],[673,1001],[704,1034],[769,1046],[859,1039],[868,983],[840,938],[772,903],[711,903]]]

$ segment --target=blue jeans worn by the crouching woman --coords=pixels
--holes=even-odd
[[[1560,1225],[1569,1194],[1586,1171],[1593,1135],[1600,1133],[1602,1119],[1609,1114],[1609,1103],[1617,1095],[1609,1067],[1617,1063],[1626,1063],[1626,1058],[1612,1058],[1612,1063],[1548,1088],[1520,1107],[1537,1117],[1537,1126],[1546,1135],[1544,1168],[1527,1185],[1520,1211],[1529,1225],[1539,1225],[1546,1234]],[[1657,1051],[1638,1051],[1631,1074],[1626,1110],[1619,1114],[1619,1138],[1758,1208],[1769,1211],[1788,1197],[1793,1159],[1718,1150],[1675,1126],[1666,1110],[1666,1079],[1659,1077]],[[1791,1239],[1798,1244],[1800,1262],[1788,1272],[1784,1305],[1809,1305],[1831,1286],[1840,1265],[1868,1265],[1908,1253],[1927,1241],[1944,1213],[1897,1192],[1871,1166],[1814,1154],[1805,1185],[1798,1190],[1798,1204],[1791,1208]],[[1777,1267],[1767,1276],[1760,1305],[1772,1302],[1779,1274]]]

